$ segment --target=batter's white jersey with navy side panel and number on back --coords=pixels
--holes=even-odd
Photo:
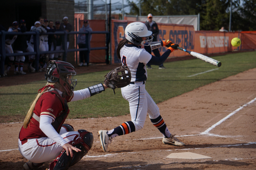
[[[151,59],[144,48],[137,45],[125,44],[120,50],[121,61],[131,71],[131,82],[143,82],[147,80],[146,64]]]

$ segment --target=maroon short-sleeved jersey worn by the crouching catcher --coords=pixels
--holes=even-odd
[[[60,117],[62,113],[65,111],[67,114],[63,118],[62,122],[64,122],[69,113],[68,107],[66,108],[66,110],[64,108],[64,101],[65,98],[62,98],[60,95],[58,95],[58,92],[46,92],[42,94],[42,96],[38,99],[34,108],[34,114],[36,114],[39,117],[40,115],[51,116],[53,120],[55,120],[56,118]],[[23,126],[21,127],[21,131],[19,134],[19,139],[21,141],[24,139],[41,137],[47,136],[41,131],[39,127],[39,122],[35,120],[33,117],[30,119],[29,125],[26,129]]]

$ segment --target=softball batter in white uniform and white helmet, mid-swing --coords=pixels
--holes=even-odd
[[[158,106],[145,89],[145,81],[147,80],[146,64],[161,65],[179,45],[172,43],[167,46],[162,44],[162,46],[169,48],[161,57],[155,57],[143,48],[143,45],[151,44],[151,35],[152,32],[148,31],[145,24],[133,22],[126,26],[126,39],[122,40],[117,47],[117,55],[121,59],[122,65],[127,65],[131,71],[130,85],[121,88],[123,98],[129,102],[131,121],[124,122],[112,130],[100,130],[98,132],[101,149],[104,152],[108,151],[108,144],[111,143],[113,138],[142,129],[147,113],[153,125],[163,134],[162,142],[164,144],[185,146],[183,142],[169,132],[160,115]]]

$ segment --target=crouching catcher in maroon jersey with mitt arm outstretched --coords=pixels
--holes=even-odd
[[[118,75],[120,71],[123,72],[121,76]],[[124,87],[131,81],[127,66],[113,69],[109,74],[115,77],[108,83],[114,84],[112,89]],[[70,112],[67,103],[101,93],[108,86],[99,83],[74,91],[75,75],[75,68],[70,63],[50,61],[47,64],[47,84],[38,91],[19,133],[19,151],[29,160],[23,165],[24,170],[39,168],[44,162],[54,159],[50,170],[66,170],[91,149],[94,141],[92,133],[83,129],[74,131],[71,125],[63,124]]]

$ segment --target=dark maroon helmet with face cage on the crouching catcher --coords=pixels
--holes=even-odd
[[[45,79],[48,82],[58,82],[65,89],[67,95],[73,96],[76,86],[75,67],[64,61],[49,61],[47,64]]]

